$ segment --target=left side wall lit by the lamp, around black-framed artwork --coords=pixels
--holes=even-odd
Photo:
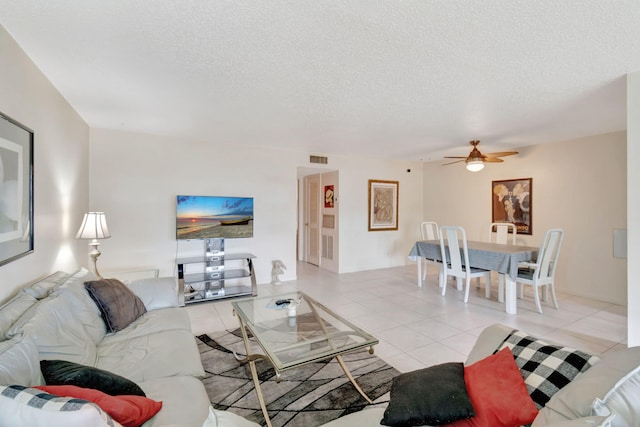
[[[74,239],[89,208],[89,128],[0,26],[0,111],[34,131],[32,254],[0,267],[0,301],[22,284],[85,263]]]

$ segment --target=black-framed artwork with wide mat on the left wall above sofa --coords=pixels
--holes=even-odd
[[[33,252],[33,131],[0,113],[0,265]]]

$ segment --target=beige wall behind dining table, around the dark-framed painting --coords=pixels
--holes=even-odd
[[[519,155],[471,173],[464,164],[424,166],[424,219],[462,225],[483,239],[491,222],[491,181],[533,178],[533,235],[565,230],[556,286],[566,293],[627,302],[627,263],[613,257],[613,229],[627,226],[626,134],[597,135],[518,149]],[[583,166],[584,165],[584,166]]]

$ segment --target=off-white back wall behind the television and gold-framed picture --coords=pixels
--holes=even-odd
[[[178,194],[254,197],[254,237],[229,239],[228,251],[248,251],[258,283],[271,281],[271,261],[296,277],[297,171],[309,153],[91,130],[91,204],[107,213],[112,237],[102,241],[100,269],[157,267],[175,275],[176,254],[194,255],[200,242],[176,242]],[[407,173],[407,169],[414,172]],[[322,171],[322,168],[318,168]],[[421,217],[422,179],[416,162],[329,156],[340,183],[340,272],[404,265]],[[400,181],[398,231],[367,231],[368,179]]]

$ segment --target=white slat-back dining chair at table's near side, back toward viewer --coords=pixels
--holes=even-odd
[[[469,287],[471,279],[484,277],[485,295],[489,297],[491,286],[491,271],[471,267],[469,264],[469,249],[467,248],[467,234],[462,227],[440,227],[440,251],[442,253],[442,295],[447,292],[447,276],[457,278],[458,290],[462,289],[462,279],[465,280],[464,302],[469,301]]]

